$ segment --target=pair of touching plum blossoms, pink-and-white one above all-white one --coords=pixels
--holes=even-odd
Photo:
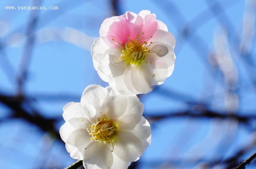
[[[143,10],[107,18],[92,45],[103,88],[85,88],[79,103],[64,106],[60,136],[87,168],[127,168],[151,142],[151,129],[136,96],[161,85],[174,69],[175,38],[155,14]]]

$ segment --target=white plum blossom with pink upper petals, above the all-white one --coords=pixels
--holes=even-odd
[[[94,67],[120,93],[148,93],[172,74],[175,38],[150,11],[107,18],[99,34],[92,45]]]

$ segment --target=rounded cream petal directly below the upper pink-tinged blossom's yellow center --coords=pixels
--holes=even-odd
[[[139,93],[152,91],[152,74],[145,65],[136,66],[131,70],[131,81]]]

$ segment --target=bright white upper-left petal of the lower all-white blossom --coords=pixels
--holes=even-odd
[[[95,116],[96,111],[91,105],[85,105],[82,103],[70,102],[63,108],[63,118],[65,121],[73,117],[84,117],[86,119],[92,119]]]

